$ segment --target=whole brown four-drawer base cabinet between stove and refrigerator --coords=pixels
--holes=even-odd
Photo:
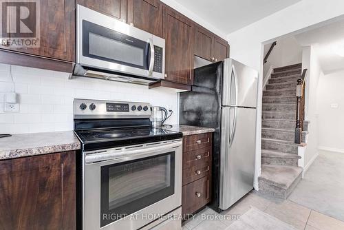
[[[213,134],[183,138],[182,214],[189,216],[211,201]]]

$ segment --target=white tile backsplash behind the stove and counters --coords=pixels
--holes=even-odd
[[[3,112],[5,92],[12,91],[10,65],[0,64],[0,134],[73,130],[74,98],[139,101],[172,109],[166,123],[178,123],[175,90],[118,83],[100,79],[68,79],[68,74],[12,65],[14,88],[20,96],[20,112]]]

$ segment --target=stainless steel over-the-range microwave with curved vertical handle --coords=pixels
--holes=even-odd
[[[77,6],[74,76],[148,85],[164,79],[165,40]]]

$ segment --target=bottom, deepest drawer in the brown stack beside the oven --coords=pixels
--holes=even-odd
[[[211,181],[209,176],[195,180],[182,187],[182,213],[194,213],[211,200]]]

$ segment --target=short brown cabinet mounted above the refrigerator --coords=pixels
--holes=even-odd
[[[212,32],[195,27],[194,54],[208,61],[223,61],[229,56],[228,43]]]

